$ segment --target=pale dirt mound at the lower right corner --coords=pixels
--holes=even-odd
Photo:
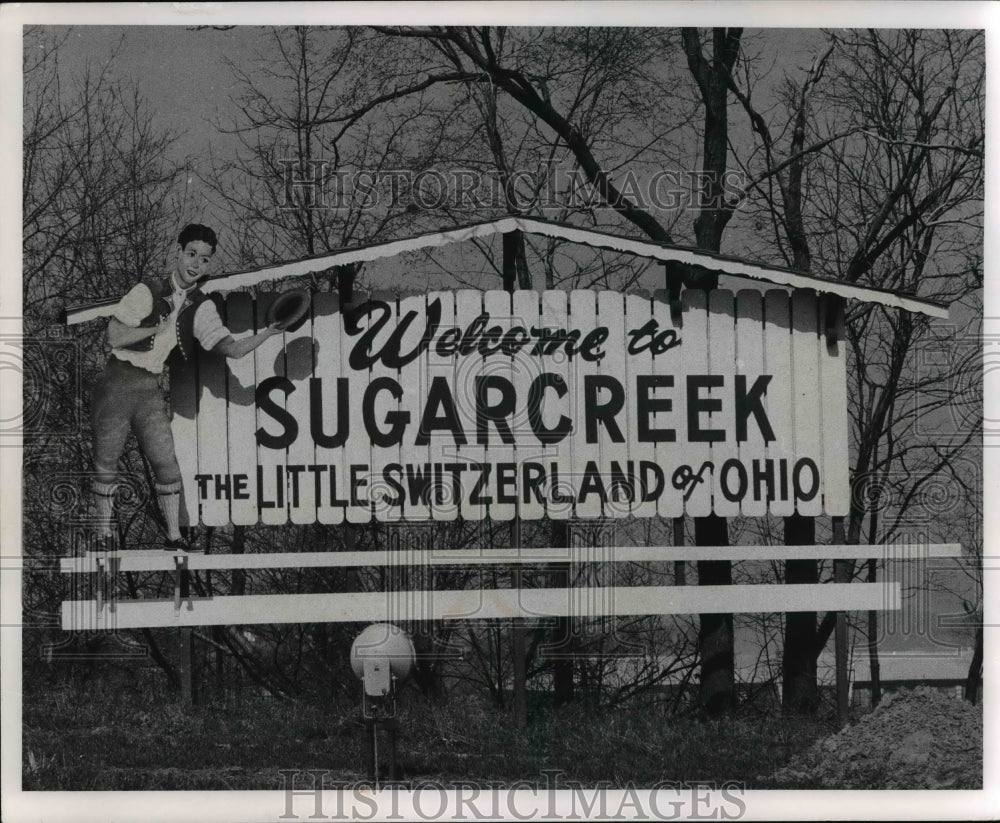
[[[980,789],[982,708],[928,688],[890,693],[774,780],[802,789]]]

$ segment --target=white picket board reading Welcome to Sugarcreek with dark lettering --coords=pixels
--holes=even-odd
[[[230,294],[234,334],[275,295]],[[662,298],[662,299],[661,299]],[[207,525],[843,515],[845,352],[807,290],[313,296],[294,332],[171,374]]]

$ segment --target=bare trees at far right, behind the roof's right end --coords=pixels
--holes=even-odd
[[[981,32],[834,32],[805,75],[786,80],[770,117],[753,102],[749,76],[734,82],[759,141],[746,165],[747,211],[771,223],[786,265],[958,302],[975,322],[968,301],[982,286],[982,65]],[[847,540],[878,543],[905,530],[922,489],[968,453],[979,429],[975,418],[943,437],[921,429],[964,402],[953,382],[956,369],[964,372],[957,329],[874,304],[854,306],[847,320]],[[952,337],[953,356],[934,365],[922,353],[942,335]],[[981,494],[968,477],[955,482]],[[875,565],[868,571],[871,579]],[[873,613],[875,672],[876,620]],[[808,637],[786,643],[786,660],[806,658],[813,684],[833,625],[832,614],[820,621],[811,650]]]

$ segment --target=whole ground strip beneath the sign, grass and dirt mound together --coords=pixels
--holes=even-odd
[[[360,707],[243,695],[184,706],[102,681],[24,695],[26,790],[280,789],[282,771],[365,779]],[[928,692],[889,696],[835,733],[829,721],[740,714],[723,721],[656,707],[538,708],[524,728],[478,698],[400,704],[400,755],[413,783],[584,786],[736,781],[768,788],[975,788],[982,712]]]

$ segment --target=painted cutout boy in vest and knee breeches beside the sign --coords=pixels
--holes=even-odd
[[[161,389],[167,358],[175,348],[187,360],[195,346],[244,357],[281,330],[270,327],[234,340],[222,323],[215,303],[198,284],[208,273],[218,241],[208,226],[185,226],[177,238],[177,260],[164,277],[136,284],[115,306],[108,324],[111,357],[94,388],[91,422],[94,429],[94,495],[98,538],[112,540],[118,460],[129,431],[149,461],[156,494],[166,519],[165,548],[186,551],[180,532],[181,473],[174,453],[170,414]]]

